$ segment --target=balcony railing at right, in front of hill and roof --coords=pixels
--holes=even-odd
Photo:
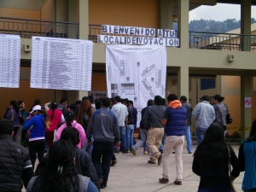
[[[243,44],[246,44],[243,46]],[[256,51],[256,35],[218,32],[189,32],[189,48]]]

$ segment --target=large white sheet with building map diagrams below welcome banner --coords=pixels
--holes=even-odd
[[[166,96],[166,47],[107,45],[106,72],[108,97],[133,101],[138,125],[148,100]]]

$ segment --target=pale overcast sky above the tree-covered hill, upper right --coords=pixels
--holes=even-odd
[[[240,20],[241,7],[236,4],[217,3],[215,6],[202,5],[197,9],[189,12],[190,20],[218,20],[224,21],[227,19]],[[252,18],[256,20],[256,6],[252,6]]]

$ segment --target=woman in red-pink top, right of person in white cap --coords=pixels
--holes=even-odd
[[[57,129],[58,125],[65,122],[62,112],[57,109],[58,104],[56,102],[50,103],[50,108],[47,111],[49,117],[49,129],[46,129],[46,142],[48,147],[50,147],[54,140],[54,131]]]

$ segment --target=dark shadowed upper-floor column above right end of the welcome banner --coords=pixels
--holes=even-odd
[[[160,0],[159,2],[159,28],[172,29],[172,0]]]

